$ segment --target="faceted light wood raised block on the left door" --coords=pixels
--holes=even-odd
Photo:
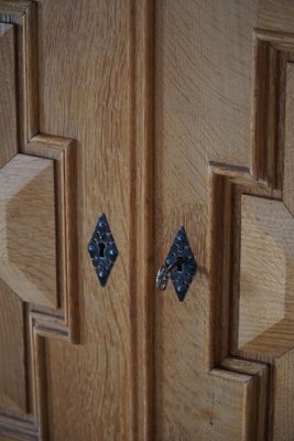
[[[53,161],[14,157],[0,170],[0,278],[24,302],[57,304]]]

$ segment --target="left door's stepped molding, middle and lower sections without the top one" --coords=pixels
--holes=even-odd
[[[77,301],[77,236],[75,223],[75,142],[69,139],[39,135],[24,149],[26,154],[48,158],[55,163],[57,195],[57,257],[58,300],[56,310],[31,305],[26,308],[29,316],[29,335],[31,349],[32,407],[34,416],[15,418],[0,413],[0,433],[13,433],[15,439],[46,439],[46,401],[45,401],[45,357],[44,342],[41,337],[78,343],[78,301]]]

